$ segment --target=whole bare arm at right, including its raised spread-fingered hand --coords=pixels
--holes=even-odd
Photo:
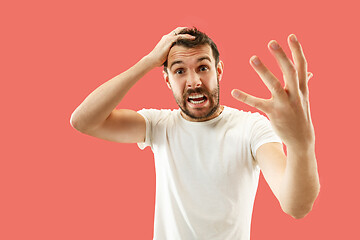
[[[251,66],[270,90],[270,99],[261,99],[233,90],[233,96],[266,113],[270,123],[287,147],[287,157],[281,144],[268,143],[256,153],[257,161],[278,198],[282,209],[294,218],[302,218],[312,209],[320,191],[315,157],[315,132],[311,121],[307,62],[295,35],[288,37],[293,62],[276,41],[269,50],[277,60],[284,76],[285,87],[254,56]]]

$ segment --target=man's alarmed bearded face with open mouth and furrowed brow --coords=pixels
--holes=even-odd
[[[207,44],[196,48],[175,45],[170,49],[164,77],[185,118],[205,121],[217,116],[222,73],[223,63],[215,66]]]

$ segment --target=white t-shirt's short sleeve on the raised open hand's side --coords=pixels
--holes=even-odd
[[[253,124],[251,128],[251,137],[250,137],[250,145],[251,145],[251,153],[256,156],[257,149],[269,142],[279,142],[282,143],[280,137],[276,135],[273,130],[270,121],[262,116],[259,113],[254,113],[253,115]]]

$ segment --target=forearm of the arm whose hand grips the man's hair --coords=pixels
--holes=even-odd
[[[71,125],[79,131],[92,129],[109,117],[130,88],[155,66],[147,56],[118,76],[95,89],[71,115]]]

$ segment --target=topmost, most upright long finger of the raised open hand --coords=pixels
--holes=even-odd
[[[304,56],[302,47],[294,34],[290,34],[288,37],[288,44],[291,49],[293,60],[299,77],[300,91],[304,92],[307,88],[307,62]]]

